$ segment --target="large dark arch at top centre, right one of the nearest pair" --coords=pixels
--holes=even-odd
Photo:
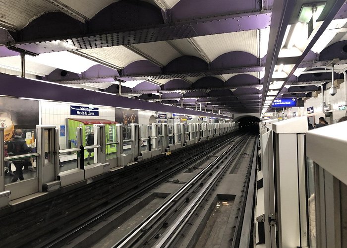
[[[97,13],[90,20],[89,28],[92,33],[98,33],[113,32],[119,27],[136,29],[157,24],[164,24],[159,7],[144,1],[122,0],[110,4]]]

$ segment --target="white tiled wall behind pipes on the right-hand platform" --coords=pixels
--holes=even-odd
[[[338,120],[341,117],[346,115],[346,110],[339,111],[339,106],[345,105],[345,83],[341,83],[339,88],[337,89],[338,93],[334,96],[329,94],[330,86],[328,85],[328,89],[324,91],[324,98],[326,104],[331,104],[333,110],[333,120]],[[313,114],[307,114],[307,108],[314,107]],[[320,117],[325,117],[322,112],[322,95],[318,94],[318,97],[311,97],[305,100],[305,115],[314,116],[315,123],[318,123],[318,119]],[[329,121],[329,120],[328,120]]]

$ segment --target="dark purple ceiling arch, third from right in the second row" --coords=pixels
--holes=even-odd
[[[129,63],[122,69],[122,76],[162,73],[162,69],[147,60]]]

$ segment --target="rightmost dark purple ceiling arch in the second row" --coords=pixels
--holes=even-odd
[[[252,54],[240,51],[234,51],[222,54],[211,62],[211,69],[229,68],[229,67],[245,67],[258,65],[258,59]]]

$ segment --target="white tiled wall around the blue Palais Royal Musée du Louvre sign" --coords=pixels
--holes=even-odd
[[[99,107],[99,116],[71,116],[70,104],[41,101],[42,125],[55,125],[57,128],[59,128],[60,125],[66,125],[67,118],[106,119],[115,121],[115,109],[109,107]],[[67,127],[65,127],[65,130],[67,130]],[[59,137],[59,145],[60,149],[66,149],[66,136]]]

